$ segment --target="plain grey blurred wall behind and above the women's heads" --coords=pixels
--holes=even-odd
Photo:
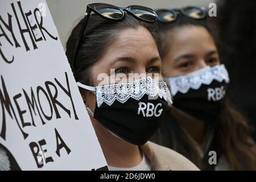
[[[91,0],[46,0],[49,10],[51,11],[52,18],[59,32],[59,36],[63,47],[72,28],[78,23],[86,10],[86,5],[94,2],[110,3],[119,7],[126,7],[129,5],[142,5],[151,7],[152,9],[159,8],[173,8],[183,7],[188,5],[205,6],[208,7],[209,3],[215,0],[108,0],[108,1],[91,1]]]

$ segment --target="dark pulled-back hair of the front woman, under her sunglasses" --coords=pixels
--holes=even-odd
[[[72,65],[74,47],[81,30],[82,20],[73,28],[67,41],[66,55],[70,65]],[[125,18],[122,20],[105,19],[99,15],[91,14],[85,34],[82,36],[80,49],[77,52],[76,81],[92,85],[90,78],[92,65],[101,59],[108,46],[116,40],[120,31],[139,27],[146,28],[154,38],[156,46],[159,47],[157,23],[144,22],[126,12]]]

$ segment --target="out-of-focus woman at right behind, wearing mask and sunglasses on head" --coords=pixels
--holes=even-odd
[[[152,141],[200,169],[256,169],[255,143],[246,118],[228,99],[229,76],[206,11],[186,7],[157,13],[162,71],[174,104]]]

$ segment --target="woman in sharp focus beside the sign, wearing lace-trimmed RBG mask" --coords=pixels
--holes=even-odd
[[[147,142],[171,104],[160,74],[156,20],[147,7],[94,3],[67,42],[69,63],[111,170],[197,169],[169,148]],[[117,78],[135,74],[140,76],[131,81]]]

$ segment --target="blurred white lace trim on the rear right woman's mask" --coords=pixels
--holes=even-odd
[[[202,84],[209,85],[213,80],[229,82],[228,71],[223,64],[207,67],[199,71],[177,77],[165,78],[171,86],[172,96],[177,92],[187,93],[189,89],[199,89]]]

